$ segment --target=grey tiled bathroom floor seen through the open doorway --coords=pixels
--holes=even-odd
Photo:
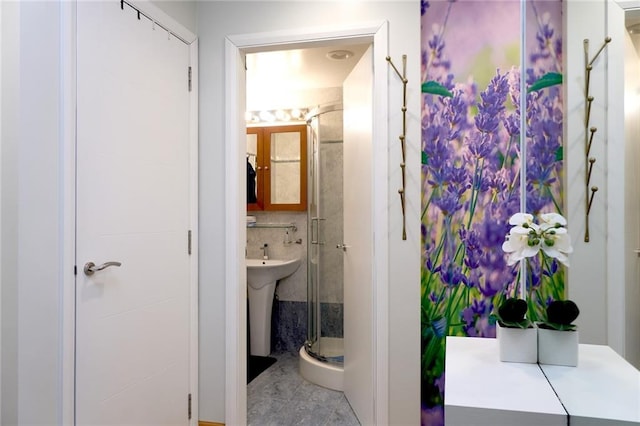
[[[247,386],[249,426],[358,426],[342,392],[316,386],[300,376],[298,357],[271,354],[278,361]]]

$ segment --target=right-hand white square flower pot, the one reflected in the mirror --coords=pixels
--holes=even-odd
[[[538,328],[538,362],[540,364],[578,365],[578,330],[558,331]]]

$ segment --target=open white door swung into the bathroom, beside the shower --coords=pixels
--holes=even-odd
[[[373,54],[369,47],[343,84],[344,393],[363,425],[373,407]]]

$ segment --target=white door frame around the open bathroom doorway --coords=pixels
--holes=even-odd
[[[388,24],[369,22],[335,28],[283,30],[228,36],[225,40],[225,423],[246,424],[246,191],[245,79],[238,61],[246,53],[319,44],[373,43],[373,158],[371,185],[374,245],[373,319],[371,324],[376,424],[388,424],[389,361],[389,164],[388,129]],[[364,212],[363,212],[364,213]]]

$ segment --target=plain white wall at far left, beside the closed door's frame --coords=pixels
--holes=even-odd
[[[61,401],[60,6],[5,3],[2,25],[2,419]]]

